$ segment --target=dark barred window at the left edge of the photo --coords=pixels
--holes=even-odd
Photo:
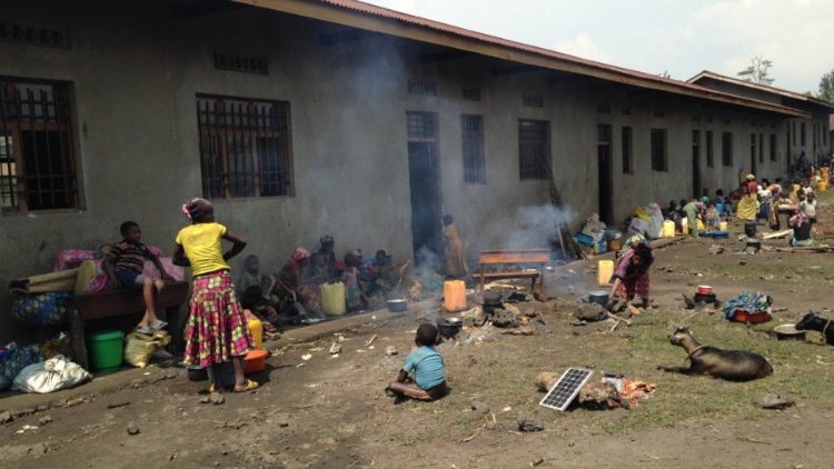
[[[78,208],[70,84],[0,77],[0,208]]]

